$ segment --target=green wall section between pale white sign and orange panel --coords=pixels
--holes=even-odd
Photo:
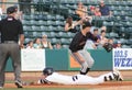
[[[45,54],[47,67],[53,67],[55,70],[68,70],[68,49],[46,49]]]

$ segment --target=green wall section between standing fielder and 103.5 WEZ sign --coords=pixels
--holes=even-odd
[[[112,69],[112,52],[108,53],[105,49],[88,50],[95,60],[91,70],[111,70]],[[70,70],[79,70],[77,67],[69,67]]]

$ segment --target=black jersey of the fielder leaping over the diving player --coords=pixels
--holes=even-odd
[[[69,49],[73,53],[76,53],[77,50],[82,49],[88,38],[90,38],[92,41],[97,41],[97,37],[95,37],[90,32],[87,33],[86,36],[84,36],[81,32],[78,32],[74,36],[74,38],[69,45]]]

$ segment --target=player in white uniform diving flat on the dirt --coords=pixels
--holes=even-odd
[[[90,77],[86,75],[66,76],[55,72],[53,68],[43,70],[43,78],[37,83],[61,83],[61,85],[98,85],[105,81],[117,80],[122,81],[123,78],[118,69],[99,77]]]

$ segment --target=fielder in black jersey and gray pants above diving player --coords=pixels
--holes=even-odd
[[[98,37],[95,37],[90,33],[90,29],[91,24],[89,22],[84,22],[82,30],[74,36],[69,45],[69,49],[72,52],[73,57],[81,65],[81,75],[86,75],[94,65],[92,57],[87,52],[87,49],[84,48],[88,38],[94,41],[98,40]]]

